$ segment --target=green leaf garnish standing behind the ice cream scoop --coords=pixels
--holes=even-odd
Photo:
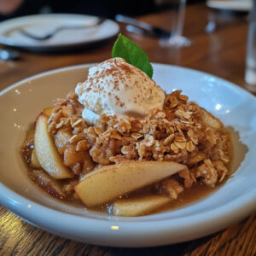
[[[150,79],[153,76],[153,67],[148,61],[148,55],[137,44],[121,34],[113,44],[112,57],[125,59],[131,65],[141,69]]]

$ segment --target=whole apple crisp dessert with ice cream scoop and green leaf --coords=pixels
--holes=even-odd
[[[22,146],[35,183],[119,216],[223,183],[231,144],[222,123],[181,90],[166,94],[152,74],[142,49],[119,35],[112,59],[38,115]]]

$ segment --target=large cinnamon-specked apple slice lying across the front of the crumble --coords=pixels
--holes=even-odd
[[[75,191],[87,207],[94,207],[156,183],[184,168],[187,166],[171,161],[130,161],[102,166],[85,175]]]

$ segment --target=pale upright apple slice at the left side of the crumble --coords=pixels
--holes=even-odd
[[[35,131],[35,153],[40,166],[55,178],[70,178],[73,173],[63,165],[60,154],[55,148],[55,143],[48,132],[48,117],[40,113],[36,123]]]

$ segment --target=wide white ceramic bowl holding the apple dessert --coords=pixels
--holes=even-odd
[[[87,76],[88,65],[66,67],[20,81],[0,93],[0,203],[53,234],[92,244],[147,247],[188,241],[222,230],[256,209],[256,100],[235,84],[195,70],[154,64],[154,80],[182,89],[239,131],[247,154],[227,183],[207,198],[171,212],[111,217],[57,201],[27,176],[20,145],[38,113]],[[236,148],[238,152],[242,148]]]

